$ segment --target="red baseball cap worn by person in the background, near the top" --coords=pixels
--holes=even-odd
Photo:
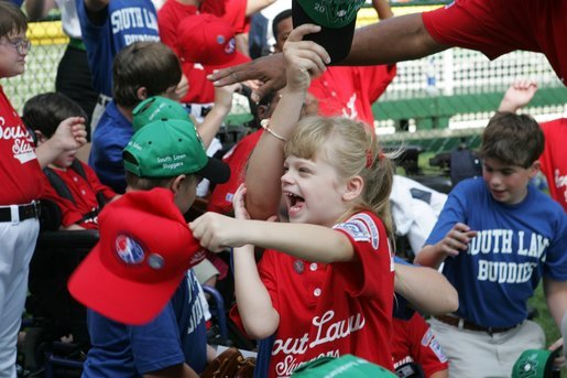
[[[237,51],[235,29],[216,15],[188,15],[177,26],[179,57],[200,63],[207,72],[250,62]]]

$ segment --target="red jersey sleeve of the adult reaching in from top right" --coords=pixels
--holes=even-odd
[[[544,53],[566,84],[566,14],[563,0],[456,0],[423,13],[423,22],[438,43],[478,50],[490,60],[514,50]]]

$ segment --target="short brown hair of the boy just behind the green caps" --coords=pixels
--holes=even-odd
[[[148,97],[162,95],[179,83],[182,67],[175,53],[161,42],[134,42],[122,48],[112,65],[112,93],[118,105],[141,102],[138,89]]]

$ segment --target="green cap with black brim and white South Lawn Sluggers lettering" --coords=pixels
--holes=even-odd
[[[127,171],[140,177],[173,177],[196,174],[225,183],[230,169],[207,156],[195,125],[178,119],[157,120],[134,132],[123,153]]]

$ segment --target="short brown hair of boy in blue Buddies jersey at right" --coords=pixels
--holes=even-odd
[[[530,168],[544,151],[544,133],[527,115],[497,112],[482,133],[482,158]]]

